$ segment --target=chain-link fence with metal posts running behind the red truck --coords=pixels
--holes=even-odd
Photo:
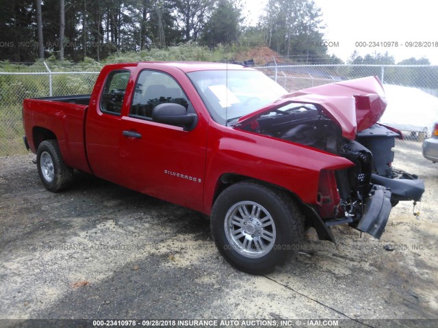
[[[24,98],[90,94],[101,67],[45,63],[20,71],[0,72],[0,156],[22,154]],[[438,66],[299,65],[257,67],[288,91],[336,81],[377,76],[383,81],[388,107],[381,122],[404,134],[404,148],[421,156],[421,146],[438,120]],[[2,68],[0,68],[2,70]],[[62,72],[60,70],[68,70]]]

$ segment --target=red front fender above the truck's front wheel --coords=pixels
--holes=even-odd
[[[283,139],[221,128],[209,133],[205,171],[205,210],[214,201],[223,174],[247,176],[294,193],[306,204],[316,204],[320,171],[345,169],[348,159]]]

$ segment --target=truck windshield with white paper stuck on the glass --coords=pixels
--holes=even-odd
[[[287,91],[257,70],[202,70],[188,76],[219,124],[252,113]]]

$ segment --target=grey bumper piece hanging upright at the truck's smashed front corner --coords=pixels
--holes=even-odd
[[[379,239],[385,231],[389,213],[391,213],[391,191],[374,184],[356,228]]]

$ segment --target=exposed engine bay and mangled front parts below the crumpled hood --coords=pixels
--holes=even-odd
[[[411,179],[394,179],[398,175],[391,167],[394,160],[391,148],[400,135],[380,124],[357,133],[356,139],[350,140],[343,137],[341,128],[324,114],[320,105],[290,102],[266,111],[239,128],[318,148],[355,164],[331,172],[333,176],[321,175],[322,179],[329,179],[325,185],[335,186],[335,190],[322,187],[315,209],[328,227],[348,223],[352,228],[380,238],[391,206],[399,200],[418,201],[424,192],[424,182],[413,175]],[[374,217],[372,221],[366,219],[368,213]]]

